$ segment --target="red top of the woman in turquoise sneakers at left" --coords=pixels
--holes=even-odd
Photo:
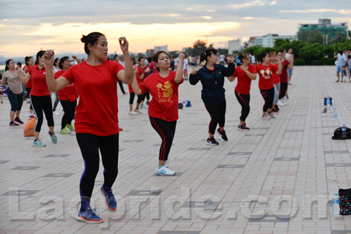
[[[50,95],[48,90],[48,85],[46,84],[46,71],[45,67],[39,69],[38,65],[29,67],[27,73],[30,75],[32,80],[32,90],[30,90],[30,95],[33,96],[47,96]]]

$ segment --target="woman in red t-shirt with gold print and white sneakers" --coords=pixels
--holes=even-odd
[[[133,81],[135,94],[141,95],[147,90],[152,95],[149,106],[149,116],[152,128],[156,130],[162,139],[161,149],[159,150],[159,166],[156,167],[156,175],[173,176],[176,172],[168,169],[166,160],[171,151],[173,137],[176,132],[178,120],[178,87],[183,82],[183,60],[185,55],[179,55],[177,71],[170,71],[171,60],[168,53],[157,52],[152,60],[158,72],[147,76],[143,83],[138,84],[136,75]],[[134,74],[137,69],[135,68]]]

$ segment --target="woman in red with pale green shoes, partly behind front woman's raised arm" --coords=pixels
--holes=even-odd
[[[81,63],[81,60],[79,60],[76,56],[73,55],[72,57],[77,59],[78,64]],[[62,74],[64,74],[65,71],[71,67],[71,60],[69,60],[69,57],[61,57],[58,62],[58,67],[60,67],[60,70],[55,72],[55,78],[62,76]],[[58,91],[58,99],[63,107],[63,111],[65,111],[61,120],[60,134],[67,135],[74,131],[72,120],[74,118],[74,112],[76,111],[77,98],[78,93],[74,83],[71,83],[67,87]]]

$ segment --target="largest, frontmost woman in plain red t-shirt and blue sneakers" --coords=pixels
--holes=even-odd
[[[118,126],[118,80],[130,84],[133,82],[133,67],[128,52],[128,41],[119,38],[119,45],[126,58],[126,69],[111,60],[107,60],[107,39],[100,32],[92,32],[81,38],[84,51],[88,55],[86,62],[69,67],[62,76],[55,79],[53,71],[48,69],[46,82],[51,92],[56,92],[67,85],[77,87],[79,103],[76,107],[74,127],[77,142],[84,159],[85,169],[79,185],[81,209],[79,221],[101,223],[90,206],[96,175],[99,171],[99,149],[104,166],[104,184],[100,192],[110,210],[117,209],[117,202],[112,193],[112,185],[118,174],[119,126]],[[46,50],[45,64],[51,67],[55,53]],[[50,71],[49,71],[50,70]]]

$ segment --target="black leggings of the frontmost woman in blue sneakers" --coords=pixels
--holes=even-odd
[[[79,191],[81,201],[90,202],[99,171],[99,149],[104,167],[104,185],[112,188],[118,174],[119,133],[100,137],[90,133],[76,133],[77,142],[84,160],[84,172],[81,175]]]

